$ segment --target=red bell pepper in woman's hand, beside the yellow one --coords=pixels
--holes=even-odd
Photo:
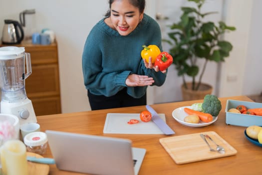
[[[161,52],[155,61],[155,66],[158,65],[159,70],[163,71],[165,69],[167,69],[167,67],[169,67],[173,62],[173,57],[168,53],[168,52]]]

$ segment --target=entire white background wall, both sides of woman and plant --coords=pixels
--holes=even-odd
[[[169,15],[172,20],[178,20],[181,14],[180,6],[187,5],[184,0],[147,0],[147,2],[147,7],[150,7],[147,9],[149,14],[153,16],[155,12],[162,12]],[[224,0],[224,2],[225,4],[222,0],[208,0],[205,10],[219,11],[212,19],[225,18],[227,24],[237,27],[237,31],[226,35],[226,39],[230,39],[234,44],[234,50],[227,61],[222,63],[221,83],[216,86],[217,79],[214,76],[217,64],[212,62],[209,63],[208,73],[203,77],[203,81],[214,85],[217,88],[214,93],[217,91],[219,96],[258,94],[262,91],[260,78],[262,21],[259,18],[262,16],[262,0]],[[106,12],[108,0],[0,0],[0,36],[4,19],[18,20],[19,12],[31,8],[36,10],[37,31],[47,27],[56,33],[62,112],[89,110],[83,84],[82,49],[90,29]],[[159,22],[162,24],[164,36],[165,24],[168,21]],[[165,44],[163,47],[168,49]],[[229,81],[229,76],[233,76],[234,79],[235,75],[237,79]],[[150,99],[150,103],[182,99],[180,90],[182,80],[181,77],[177,77],[174,67],[173,70],[170,68],[167,76],[167,81],[162,87],[151,88],[150,93],[155,93],[156,96]]]

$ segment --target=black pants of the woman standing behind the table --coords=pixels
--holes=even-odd
[[[146,94],[141,98],[134,98],[127,94],[126,88],[113,96],[94,95],[88,90],[88,99],[92,110],[146,105]]]

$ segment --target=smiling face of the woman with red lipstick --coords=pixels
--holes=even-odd
[[[130,4],[129,0],[115,0],[111,4],[110,18],[119,34],[126,36],[136,28],[140,19],[142,20],[143,13]]]

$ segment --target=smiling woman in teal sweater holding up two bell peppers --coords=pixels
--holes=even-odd
[[[158,23],[145,0],[109,0],[109,11],[90,31],[83,50],[84,84],[92,110],[146,104],[148,85],[161,86],[166,71],[141,58],[142,45],[158,45]]]

